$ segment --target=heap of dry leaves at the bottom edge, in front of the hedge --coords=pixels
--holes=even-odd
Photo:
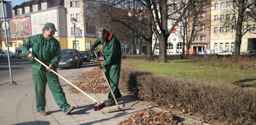
[[[132,114],[127,120],[119,123],[120,125],[130,125],[130,124],[179,124],[183,125],[181,122],[182,118],[175,116],[171,113],[156,112],[153,110],[140,111],[136,114]]]

